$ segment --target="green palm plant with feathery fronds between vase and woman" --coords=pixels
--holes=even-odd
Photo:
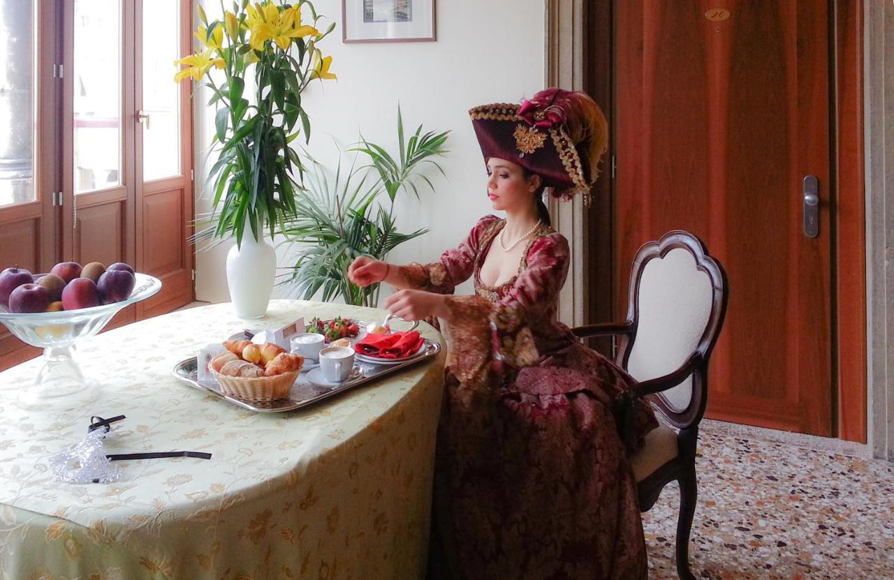
[[[434,157],[447,153],[449,132],[425,131],[419,125],[405,139],[399,107],[397,155],[361,138],[350,152],[367,163],[343,171],[340,160],[335,171],[328,172],[305,152],[305,190],[283,228],[283,244],[290,245],[297,257],[282,283],[299,298],[314,298],[319,292],[324,300],[342,298],[346,304],[375,307],[379,284],[360,288],[348,280],[348,266],[357,256],[384,260],[394,248],[426,233],[398,231],[394,201],[401,191],[418,198],[421,182],[434,191],[422,169],[431,166],[443,174]]]

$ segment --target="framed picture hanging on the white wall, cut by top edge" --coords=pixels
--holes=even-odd
[[[342,41],[434,41],[434,0],[342,0]]]

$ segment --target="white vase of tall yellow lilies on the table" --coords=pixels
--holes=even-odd
[[[335,79],[332,57],[318,48],[334,22],[320,31],[308,0],[242,0],[216,21],[198,6],[198,17],[201,46],[178,61],[186,68],[174,78],[204,80],[216,106],[217,159],[207,180],[213,210],[198,217],[195,239],[235,238],[227,283],[236,314],[253,318],[266,313],[274,286],[276,255],[265,232],[273,238],[295,215],[302,167],[291,144],[302,131],[310,139],[301,93],[312,80]],[[215,80],[210,71],[218,70]]]

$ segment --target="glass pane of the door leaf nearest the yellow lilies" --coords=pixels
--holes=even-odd
[[[143,5],[143,181],[150,181],[180,175],[180,85],[171,66],[180,58],[180,3]]]

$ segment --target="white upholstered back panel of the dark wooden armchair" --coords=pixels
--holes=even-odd
[[[711,277],[696,267],[687,249],[672,248],[643,267],[636,307],[637,334],[627,370],[637,381],[670,374],[682,366],[702,340],[713,307]],[[692,400],[692,376],[662,392],[669,407],[685,411]]]

